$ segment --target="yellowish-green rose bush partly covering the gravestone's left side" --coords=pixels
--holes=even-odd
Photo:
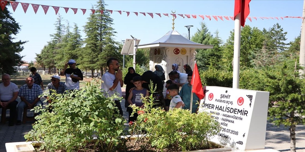
[[[132,135],[142,134],[136,143],[141,143],[143,149],[147,146],[152,146],[157,151],[209,148],[208,137],[214,136],[220,131],[219,123],[206,112],[191,114],[184,109],[165,112],[161,108],[153,108],[152,95],[148,100],[145,98],[143,100],[145,101],[143,109],[131,105],[133,112],[137,112],[139,116],[135,122],[129,123],[129,131]]]

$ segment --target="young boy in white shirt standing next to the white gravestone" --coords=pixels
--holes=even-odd
[[[176,84],[171,84],[167,87],[167,91],[169,95],[173,98],[170,101],[170,109],[173,108],[181,108],[184,107],[184,102],[182,101],[181,97],[178,95],[179,87]]]

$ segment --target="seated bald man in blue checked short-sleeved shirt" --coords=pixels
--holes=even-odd
[[[34,78],[27,77],[25,79],[26,85],[20,87],[18,95],[20,96],[21,102],[17,107],[17,123],[21,125],[21,117],[24,108],[32,109],[34,106],[41,106],[39,95],[42,94],[41,87],[34,84]]]

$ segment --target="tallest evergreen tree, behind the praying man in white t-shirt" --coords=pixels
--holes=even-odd
[[[113,40],[113,36],[116,33],[111,27],[113,19],[110,18],[110,13],[106,11],[105,6],[104,0],[99,0],[95,5],[95,9],[105,11],[91,14],[84,26],[86,34],[85,47],[79,62],[82,68],[91,70],[92,75],[95,69],[100,69],[103,73],[109,57],[116,57],[121,60],[117,47],[118,43]]]

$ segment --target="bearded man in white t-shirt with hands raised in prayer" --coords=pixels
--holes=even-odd
[[[122,96],[122,89],[123,87],[123,74],[120,70],[120,64],[116,58],[110,58],[107,61],[107,66],[109,70],[103,74],[102,76],[102,83],[101,89],[106,97],[112,96],[114,93],[117,92],[119,97]],[[116,72],[117,71],[117,72]],[[123,116],[123,110],[118,99],[115,99],[116,107],[118,107],[120,111],[120,115]]]

